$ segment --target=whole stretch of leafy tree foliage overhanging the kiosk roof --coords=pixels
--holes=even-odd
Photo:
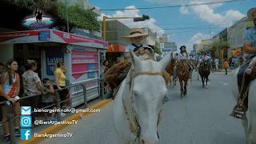
[[[11,4],[25,8],[26,10],[40,9],[48,14],[54,14],[54,16],[65,20],[66,22],[66,5],[58,0],[12,0]],[[68,20],[70,27],[78,26],[78,28],[100,31],[100,24],[97,21],[97,16],[91,10],[85,10],[78,4],[69,6],[67,8]]]

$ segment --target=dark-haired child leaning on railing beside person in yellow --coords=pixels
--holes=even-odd
[[[42,103],[43,106],[50,106],[52,104],[54,104],[54,86],[52,85],[52,83],[50,82],[49,78],[43,78],[42,79],[42,83],[44,85],[43,87],[43,95],[42,95]],[[56,106],[53,107],[53,110],[56,110]],[[47,117],[47,113],[44,114],[46,120],[51,120],[51,121],[56,121],[55,119],[55,113],[51,114],[51,118]]]

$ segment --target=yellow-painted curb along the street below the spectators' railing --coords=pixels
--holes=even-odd
[[[89,109],[99,109],[101,108],[102,106],[106,105],[107,103],[110,103],[112,100],[110,99],[106,99],[106,100],[102,100],[101,102],[98,102],[96,104],[94,104],[93,106],[90,106]],[[88,116],[90,114],[93,114],[91,112],[88,112],[88,113],[78,113],[78,114],[74,114],[74,115],[71,115],[70,117],[62,120],[62,121],[72,121],[72,120],[79,120],[80,117],[83,115],[83,116]],[[63,130],[65,129],[66,127],[68,127],[70,125],[53,125],[53,126],[49,126],[47,127],[46,129],[42,130],[42,131],[39,131],[38,134],[55,134],[57,133],[58,131],[60,130]],[[47,139],[47,137],[41,137],[41,138],[34,138],[32,137],[30,139],[30,141],[20,141],[19,143],[21,144],[34,144],[34,143],[40,143],[42,142],[43,140]]]

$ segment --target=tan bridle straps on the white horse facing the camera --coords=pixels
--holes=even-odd
[[[135,72],[134,66],[131,66],[129,73],[127,74],[128,82],[126,82],[126,85],[128,85],[128,86],[125,86],[125,89],[122,93],[123,94],[122,95],[122,103],[124,106],[127,122],[129,124],[130,132],[136,136],[136,138],[134,139],[134,143],[136,141],[138,141],[138,143],[140,143],[139,137],[141,134],[141,126],[138,122],[138,114],[134,110],[134,94],[133,94],[134,78],[139,75],[160,75],[164,78],[164,71]],[[124,95],[124,94],[128,94],[128,95]],[[158,114],[158,123],[160,121],[159,114]],[[158,135],[158,138],[159,138],[159,135]]]

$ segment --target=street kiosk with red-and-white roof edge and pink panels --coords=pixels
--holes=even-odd
[[[19,67],[27,58],[37,60],[40,78],[54,82],[54,66],[63,61],[67,68],[66,86],[70,89],[71,106],[84,102],[82,85],[86,86],[87,100],[100,95],[100,61],[104,57],[107,42],[85,38],[58,30],[30,30],[0,34],[0,57],[18,60]],[[22,69],[24,70],[24,69]]]

